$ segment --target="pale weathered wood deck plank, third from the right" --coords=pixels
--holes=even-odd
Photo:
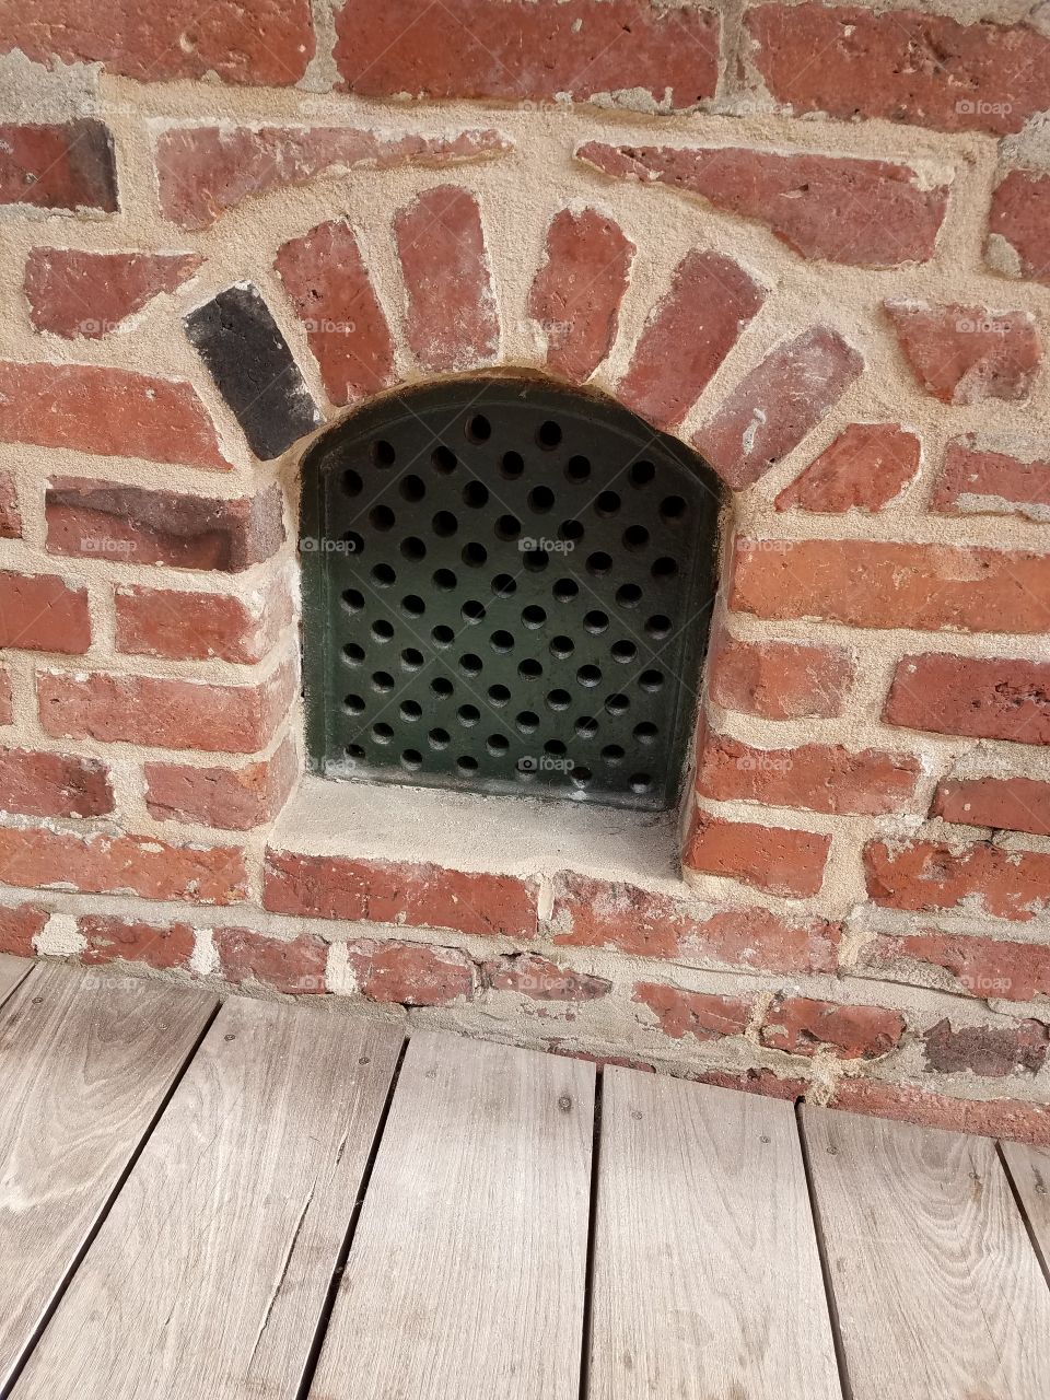
[[[606,1070],[591,1400],[841,1400],[790,1103]]]

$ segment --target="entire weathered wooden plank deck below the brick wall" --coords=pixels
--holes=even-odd
[[[1,956],[0,1002],[0,1396],[1050,1396],[1050,1151]]]

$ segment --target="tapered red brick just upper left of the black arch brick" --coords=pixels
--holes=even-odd
[[[90,253],[32,248],[25,300],[38,330],[98,340],[162,291],[175,291],[204,262],[200,253]]]

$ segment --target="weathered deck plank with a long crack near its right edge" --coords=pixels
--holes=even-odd
[[[291,1400],[400,1047],[389,1026],[227,1001],[17,1400]]]

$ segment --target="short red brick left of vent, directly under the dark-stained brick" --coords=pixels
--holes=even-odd
[[[291,622],[291,602],[280,584],[251,602],[130,584],[116,589],[115,602],[116,650],[137,657],[256,662]]]

